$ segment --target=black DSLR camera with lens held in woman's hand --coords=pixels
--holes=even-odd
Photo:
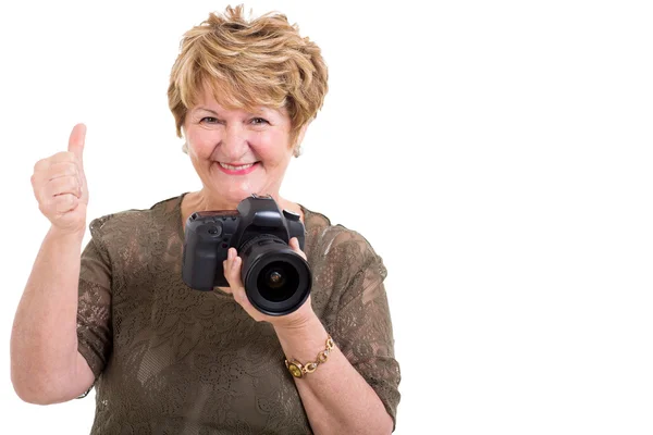
[[[236,210],[195,212],[186,221],[182,278],[196,290],[229,287],[222,262],[229,248],[236,248],[251,304],[268,315],[288,314],[301,307],[312,285],[308,263],[288,246],[293,237],[304,249],[299,215],[281,211],[270,196],[252,195]]]

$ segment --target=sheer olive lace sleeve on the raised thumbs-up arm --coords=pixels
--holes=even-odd
[[[91,240],[82,252],[77,302],[77,348],[96,380],[111,352],[111,263],[99,234],[100,224],[90,224]]]

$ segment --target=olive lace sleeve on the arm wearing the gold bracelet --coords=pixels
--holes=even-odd
[[[392,321],[383,285],[386,269],[368,241],[352,233],[340,246],[343,248],[341,268],[348,275],[348,282],[330,331],[338,348],[374,389],[396,423],[401,372],[394,358]]]

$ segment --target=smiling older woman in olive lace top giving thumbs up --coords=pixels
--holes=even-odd
[[[358,233],[279,195],[326,78],[320,49],[284,15],[210,14],[185,34],[168,90],[201,189],[94,220],[81,257],[86,127],[36,164],[51,227],[12,332],[21,398],[62,402],[95,386],[94,434],[393,431],[399,368],[382,260]],[[310,265],[311,296],[285,315],[252,308],[234,248],[229,287],[182,281],[188,216],[252,194],[305,225],[304,251],[296,238],[289,246]]]

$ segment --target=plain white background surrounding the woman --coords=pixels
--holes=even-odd
[[[386,263],[396,433],[651,434],[649,2],[381,3],[247,7],[286,13],[329,64],[282,192]],[[94,418],[93,394],[38,407],[10,382],[48,228],[34,163],[85,122],[89,217],[197,189],[168,74],[181,35],[225,4],[2,2],[1,433],[86,434]]]

